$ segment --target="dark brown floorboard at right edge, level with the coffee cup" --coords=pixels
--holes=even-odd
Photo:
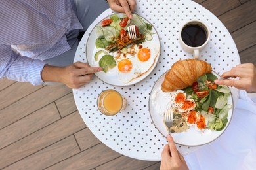
[[[254,46],[256,44],[255,27],[256,27],[256,22],[253,22],[231,34],[234,39],[234,42],[236,42],[236,47],[238,48],[238,52],[242,52],[243,50],[251,46]]]

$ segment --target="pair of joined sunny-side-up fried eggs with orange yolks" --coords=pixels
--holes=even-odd
[[[127,84],[146,73],[154,65],[159,52],[160,46],[152,42],[133,44],[125,50],[112,52],[110,55],[116,61],[117,67],[109,68],[106,75],[114,76],[117,73],[119,80]]]

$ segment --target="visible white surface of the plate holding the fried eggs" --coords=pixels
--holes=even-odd
[[[122,17],[123,18],[122,13],[117,14],[117,16]],[[142,16],[140,16],[142,18]],[[110,16],[107,16],[106,18],[110,18]],[[103,20],[105,20],[106,18],[104,18]],[[145,18],[142,18],[146,23],[150,24],[150,22],[148,22],[148,20],[146,20]],[[101,26],[101,22],[98,22],[98,24],[95,25],[96,26]],[[95,41],[97,39],[96,36],[96,32],[95,32],[95,27],[93,28],[93,30],[91,31],[89,38],[87,40],[87,48],[86,48],[86,58],[87,58],[87,62],[89,63],[89,65],[91,65],[91,67],[94,67],[95,65],[93,65],[93,60],[94,60],[94,56],[95,56],[95,52],[98,48],[96,48],[95,46]],[[154,44],[157,44],[160,47],[160,39],[158,37],[158,33],[156,32],[156,29],[154,29],[154,26],[152,27],[151,30],[152,33],[152,41],[148,41],[148,42],[152,42]],[[121,82],[121,80],[119,80],[118,75],[106,75],[106,73],[104,73],[103,71],[101,72],[97,72],[95,73],[95,75],[100,78],[100,80],[111,84],[113,86],[130,86],[132,84],[136,84],[137,82],[140,82],[141,80],[143,80],[144,78],[146,78],[146,76],[150,75],[150,73],[154,70],[154,68],[156,67],[156,63],[158,63],[158,59],[160,56],[160,52],[158,53],[158,56],[155,59],[154,65],[152,67],[150,67],[150,69],[144,73],[142,76],[135,78],[133,80],[131,80],[131,82],[128,82],[127,84]]]

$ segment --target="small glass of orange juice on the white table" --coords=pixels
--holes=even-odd
[[[98,110],[106,116],[116,115],[126,107],[126,99],[116,90],[104,90],[98,96]]]

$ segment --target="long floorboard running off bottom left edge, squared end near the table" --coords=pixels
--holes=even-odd
[[[16,163],[5,168],[5,170],[12,169],[45,169],[58,161],[65,160],[70,156],[74,156],[79,153],[80,150],[75,141],[74,135],[63,139],[57,143],[54,143],[23,160],[17,161]]]

